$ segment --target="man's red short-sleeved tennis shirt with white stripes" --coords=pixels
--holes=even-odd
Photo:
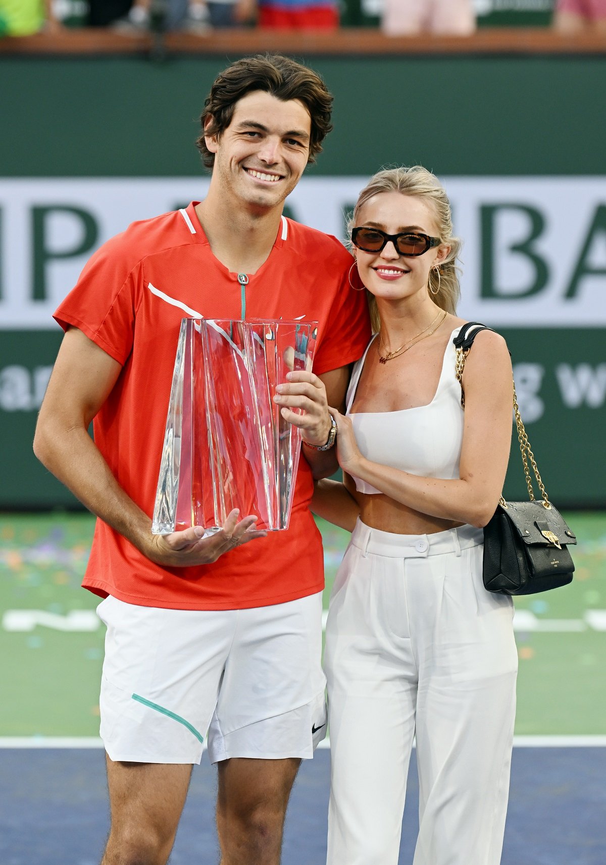
[[[370,337],[364,292],[351,289],[351,255],[336,238],[282,217],[267,261],[242,291],[237,274],[213,255],[196,203],[108,240],[55,311],[64,330],[79,328],[122,365],[94,419],[94,440],[150,517],[182,317],[318,321],[317,374],[357,360]],[[101,597],[184,610],[268,606],[319,592],[324,568],[312,493],[301,457],[290,528],[197,567],[156,565],[97,520],[82,585]]]

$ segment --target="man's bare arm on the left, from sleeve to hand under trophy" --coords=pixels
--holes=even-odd
[[[121,370],[119,362],[81,330],[67,330],[38,416],[36,457],[87,509],[159,565],[207,564],[228,549],[262,536],[248,531],[255,518],[238,522],[235,512],[218,533],[222,536],[217,544],[212,543],[217,535],[202,538],[200,527],[152,535],[149,516],[119,486],[87,432]]]

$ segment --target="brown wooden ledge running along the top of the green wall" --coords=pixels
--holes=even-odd
[[[314,54],[604,54],[606,35],[562,35],[548,28],[480,29],[472,36],[385,36],[375,29],[342,29],[336,33],[292,30],[209,30],[208,34],[170,33],[126,36],[111,29],[73,29],[61,34],[0,39],[0,55],[46,54],[171,54],[242,56],[278,51],[309,57]]]

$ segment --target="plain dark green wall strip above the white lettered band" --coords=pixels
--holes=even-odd
[[[0,173],[192,176],[203,101],[229,58],[0,55]],[[302,58],[334,94],[312,175],[421,163],[444,176],[601,175],[606,54]],[[415,99],[396,94],[416,93]],[[438,100],[442,100],[438,103]]]

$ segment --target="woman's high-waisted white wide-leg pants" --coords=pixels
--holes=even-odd
[[[472,526],[354,529],[326,625],[328,865],[396,865],[415,736],[414,865],[499,865],[518,656],[482,550]]]

